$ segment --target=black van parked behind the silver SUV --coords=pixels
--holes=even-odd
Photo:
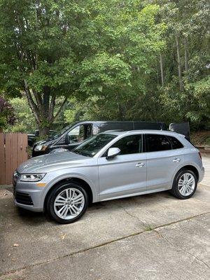
[[[186,124],[185,128],[183,125]],[[173,125],[176,125],[173,129]],[[188,138],[189,124],[171,124],[169,130],[180,132],[180,126],[183,129],[181,133],[186,134]],[[44,155],[57,148],[72,150],[85,139],[92,135],[107,130],[167,130],[167,125],[161,122],[142,122],[142,121],[81,121],[65,127],[60,134],[49,139],[38,141],[34,144],[32,156]]]

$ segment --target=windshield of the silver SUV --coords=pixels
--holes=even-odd
[[[73,149],[73,153],[78,153],[92,158],[114,138],[116,138],[116,135],[113,134],[97,134]]]

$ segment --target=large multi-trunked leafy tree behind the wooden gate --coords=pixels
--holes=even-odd
[[[1,90],[25,92],[40,134],[68,97],[120,100],[146,92],[164,42],[157,5],[119,0],[0,0]],[[155,65],[155,66],[154,66]],[[62,104],[55,110],[57,98]]]

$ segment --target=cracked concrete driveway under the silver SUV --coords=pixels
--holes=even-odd
[[[169,193],[92,205],[58,225],[0,188],[0,279],[210,279],[210,158],[190,200]]]

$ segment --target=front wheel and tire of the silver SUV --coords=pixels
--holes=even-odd
[[[48,196],[46,206],[53,220],[63,224],[74,223],[85,214],[88,195],[77,183],[61,183]]]

